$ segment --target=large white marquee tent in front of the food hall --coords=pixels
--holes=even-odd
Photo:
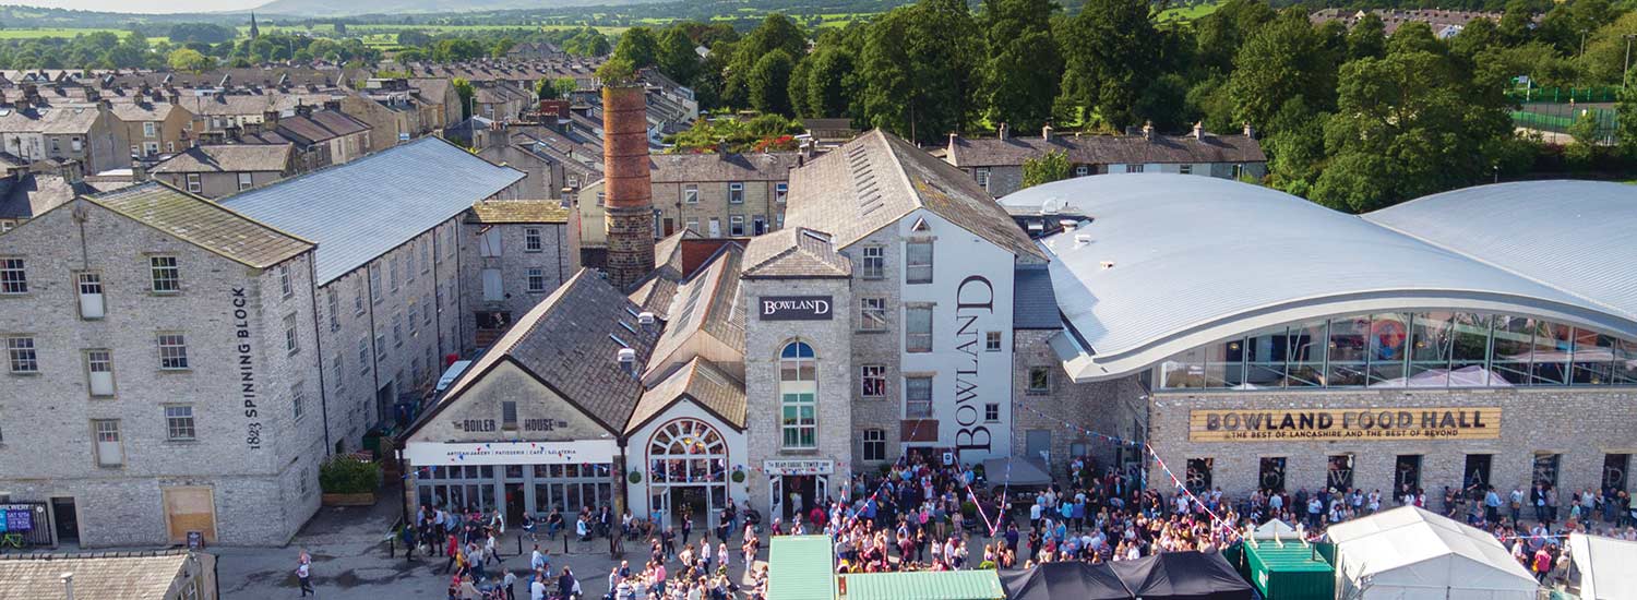
[[[1534,600],[1536,580],[1495,536],[1416,507],[1329,528],[1336,589],[1360,600]]]

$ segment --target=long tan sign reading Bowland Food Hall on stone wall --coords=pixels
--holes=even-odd
[[[1188,441],[1495,440],[1499,437],[1499,407],[1188,412]]]

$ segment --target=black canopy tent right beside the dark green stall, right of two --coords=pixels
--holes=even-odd
[[[1251,584],[1218,553],[1161,553],[1112,566],[1143,600],[1251,600]]]

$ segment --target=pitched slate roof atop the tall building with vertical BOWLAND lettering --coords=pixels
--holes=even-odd
[[[784,224],[830,232],[846,249],[917,209],[1013,255],[1044,258],[971,175],[881,129],[791,172]]]

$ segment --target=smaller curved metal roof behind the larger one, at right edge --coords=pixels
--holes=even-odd
[[[1481,185],[1364,217],[1637,319],[1637,186]]]

